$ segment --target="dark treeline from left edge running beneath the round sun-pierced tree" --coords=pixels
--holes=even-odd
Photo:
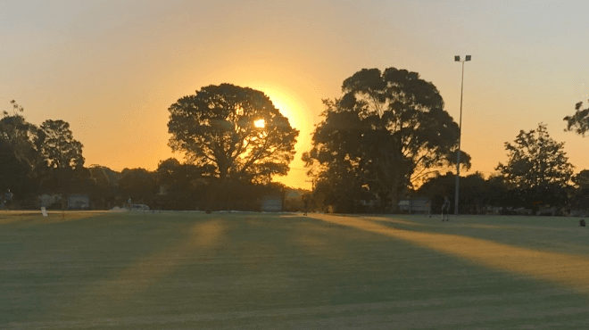
[[[83,144],[67,122],[46,120],[37,127],[18,103],[11,104],[0,120],[0,192],[11,191],[14,209],[37,208],[41,195],[52,197],[50,209],[61,209],[69,195],[83,194],[95,210],[125,207],[129,198],[158,210],[260,210],[265,196],[285,193],[277,183],[221,179],[211,165],[176,159],[161,161],[154,171],[87,167]]]

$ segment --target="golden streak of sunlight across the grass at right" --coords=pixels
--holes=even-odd
[[[589,259],[566,253],[543,252],[460,235],[424,233],[383,226],[371,219],[324,214],[314,219],[387,235],[438,252],[444,252],[512,273],[533,276],[589,293]],[[402,220],[404,221],[404,220]]]

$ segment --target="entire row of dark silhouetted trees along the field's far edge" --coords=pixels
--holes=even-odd
[[[441,198],[452,193],[440,183],[458,165],[460,128],[432,83],[408,70],[364,69],[345,79],[342,90],[341,98],[324,100],[313,146],[303,153],[316,182],[312,204],[344,212],[390,211],[411,194],[437,192]],[[567,129],[585,135],[589,109],[577,103],[576,110],[565,118]],[[299,134],[260,91],[230,84],[203,87],[169,108],[169,145],[185,153],[186,162],[170,159],[153,172],[118,173],[85,168],[82,144],[68,123],[46,120],[37,128],[22,111],[12,101],[12,113],[4,111],[0,120],[0,188],[10,187],[21,196],[91,192],[106,204],[127,194],[172,209],[212,210],[230,207],[231,200],[259,201],[278,189],[271,178],[288,172]],[[584,189],[577,181],[585,176],[577,176],[577,186],[571,186],[573,167],[545,125],[521,131],[505,146],[509,161],[499,163],[496,176],[464,178],[490,192],[479,198],[484,203],[499,202],[493,197],[498,191],[521,205],[559,203],[570,200],[574,188]],[[469,169],[469,154],[460,152],[460,160]]]

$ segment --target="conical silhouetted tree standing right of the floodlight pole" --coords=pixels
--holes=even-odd
[[[564,202],[573,165],[563,148],[564,143],[554,141],[543,123],[529,132],[520,130],[514,144],[505,143],[508,161],[500,162],[496,169],[510,189],[518,192],[522,206],[534,209],[539,202]]]

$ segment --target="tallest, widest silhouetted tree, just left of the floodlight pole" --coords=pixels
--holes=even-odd
[[[303,154],[308,166],[319,164],[319,183],[354,177],[355,191],[361,186],[395,210],[412,183],[455,166],[458,124],[437,88],[417,72],[364,69],[345,79],[342,90],[341,99],[324,101],[313,148]],[[469,155],[460,158],[468,168]]]

